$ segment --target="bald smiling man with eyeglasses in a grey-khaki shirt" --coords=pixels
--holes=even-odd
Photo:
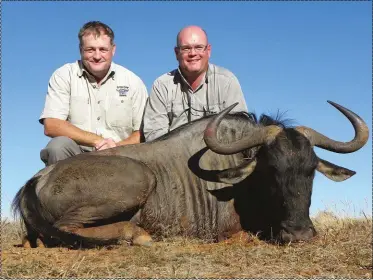
[[[155,80],[145,107],[146,141],[196,119],[216,114],[238,102],[234,111],[247,112],[245,98],[235,75],[209,63],[211,45],[198,26],[183,28],[175,47],[178,69]]]

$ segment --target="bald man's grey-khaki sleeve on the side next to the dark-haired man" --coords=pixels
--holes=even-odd
[[[147,142],[166,134],[169,130],[166,96],[166,87],[156,80],[144,113],[144,136]]]

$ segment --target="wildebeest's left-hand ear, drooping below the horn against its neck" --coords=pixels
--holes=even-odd
[[[225,169],[217,174],[218,181],[227,184],[237,184],[249,176],[255,169],[256,159],[244,162],[243,164],[235,167]]]

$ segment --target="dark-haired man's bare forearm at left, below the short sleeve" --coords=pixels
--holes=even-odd
[[[54,118],[44,119],[44,134],[49,137],[66,136],[80,145],[94,147],[103,138],[84,131],[71,123]]]

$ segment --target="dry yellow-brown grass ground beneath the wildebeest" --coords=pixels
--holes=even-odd
[[[255,236],[207,244],[169,238],[153,247],[24,249],[20,227],[2,221],[2,277],[10,278],[372,278],[372,219],[320,213],[318,237],[278,246]]]

